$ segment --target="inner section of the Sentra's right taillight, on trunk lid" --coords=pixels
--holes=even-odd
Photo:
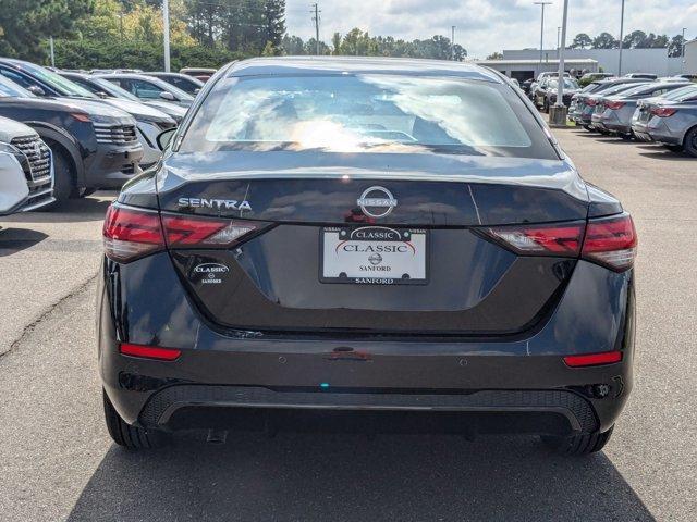
[[[516,253],[577,257],[584,223],[501,226],[482,231]]]

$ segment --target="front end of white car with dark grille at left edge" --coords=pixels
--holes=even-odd
[[[53,201],[51,150],[33,128],[0,117],[0,215]]]

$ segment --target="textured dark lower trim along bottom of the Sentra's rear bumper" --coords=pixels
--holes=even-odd
[[[208,415],[192,415],[192,410]],[[470,394],[330,393],[276,391],[262,387],[175,385],[150,397],[138,417],[140,425],[169,428],[196,426],[210,419],[207,427],[224,426],[216,422],[227,412],[234,423],[235,412],[249,419],[250,412],[402,412],[466,414],[506,413],[558,417],[574,432],[594,433],[600,427],[590,402],[571,390],[482,390]],[[474,417],[474,415],[473,415]],[[196,419],[196,420],[194,420]],[[472,417],[470,417],[472,419]]]

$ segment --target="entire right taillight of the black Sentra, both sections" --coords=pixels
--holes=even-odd
[[[550,225],[496,226],[477,229],[521,256],[583,258],[622,272],[632,268],[637,236],[629,214]]]

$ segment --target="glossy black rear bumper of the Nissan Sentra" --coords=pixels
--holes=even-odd
[[[150,271],[157,277],[145,275]],[[194,424],[210,427],[221,412],[242,410],[508,412],[561,415],[567,430],[589,432],[615,422],[632,388],[632,272],[583,261],[549,321],[524,336],[490,339],[220,332],[194,310],[166,253],[129,265],[107,262],[102,276],[99,368],[129,423],[179,427],[184,413],[211,409],[206,420],[194,415]],[[126,357],[119,340],[182,355],[171,362]],[[566,355],[611,350],[622,350],[623,360],[582,369],[563,362]],[[594,385],[607,385],[607,396],[598,398]],[[580,413],[584,405],[594,422]]]

